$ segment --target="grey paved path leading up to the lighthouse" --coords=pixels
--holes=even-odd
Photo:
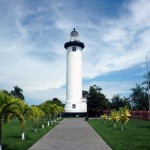
[[[68,118],[28,150],[111,150],[111,148],[83,118]]]

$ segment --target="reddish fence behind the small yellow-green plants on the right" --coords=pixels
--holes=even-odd
[[[109,115],[110,110],[103,110],[103,114],[104,113]],[[133,111],[133,110],[131,110],[130,114],[131,114],[131,118],[150,120],[150,112],[146,111],[146,110],[143,110],[143,111],[138,111],[138,110]]]

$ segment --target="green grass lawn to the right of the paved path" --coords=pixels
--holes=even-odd
[[[113,127],[111,121],[91,119],[88,123],[113,150],[150,150],[150,121],[130,119],[124,131],[120,121]]]

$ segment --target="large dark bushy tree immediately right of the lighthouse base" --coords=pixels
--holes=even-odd
[[[102,110],[109,108],[109,101],[99,86],[90,86],[87,97],[87,110],[89,116],[99,116]]]

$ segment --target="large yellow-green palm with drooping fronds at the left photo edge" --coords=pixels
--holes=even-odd
[[[0,150],[2,150],[2,118],[7,122],[12,116],[20,120],[21,127],[24,126],[24,117],[20,113],[22,109],[21,101],[0,91]]]

